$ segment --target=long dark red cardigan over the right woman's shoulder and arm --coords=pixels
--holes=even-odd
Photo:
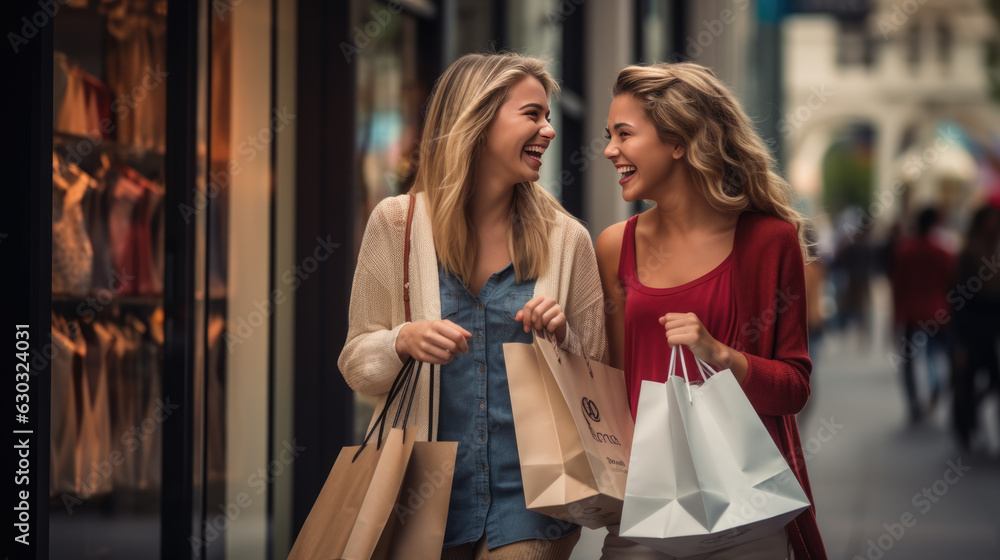
[[[749,368],[743,391],[788,461],[809,501],[809,475],[795,421],[809,398],[805,272],[794,226],[744,212],[733,248],[736,350]],[[796,560],[826,559],[815,505],[788,524]]]

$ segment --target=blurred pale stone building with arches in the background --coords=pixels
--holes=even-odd
[[[878,0],[853,18],[789,17],[784,33],[781,132],[788,176],[810,209],[824,210],[831,145],[862,128],[873,169],[866,228],[884,234],[927,205],[963,228],[996,188],[988,176],[1000,113],[987,60],[996,26],[985,3]]]

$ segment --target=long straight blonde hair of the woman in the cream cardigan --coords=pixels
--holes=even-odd
[[[438,262],[468,284],[476,264],[478,232],[469,216],[476,162],[486,131],[512,86],[526,77],[542,83],[546,95],[559,91],[545,63],[515,53],[468,54],[434,84],[412,192],[427,193]],[[518,283],[541,276],[548,265],[548,234],[559,201],[533,182],[514,186],[507,250]]]

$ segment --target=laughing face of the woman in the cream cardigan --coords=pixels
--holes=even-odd
[[[515,185],[537,181],[542,154],[555,138],[545,88],[528,76],[514,84],[486,129],[480,171]]]

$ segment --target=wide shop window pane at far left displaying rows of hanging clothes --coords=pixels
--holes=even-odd
[[[51,558],[157,558],[166,0],[54,27]]]

